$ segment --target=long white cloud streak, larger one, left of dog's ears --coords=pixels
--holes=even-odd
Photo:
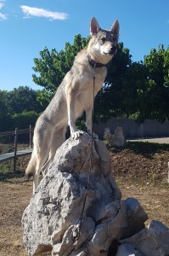
[[[65,20],[68,17],[68,14],[59,13],[59,12],[51,12],[47,9],[39,9],[36,7],[30,7],[26,5],[20,6],[23,13],[26,17],[36,16],[36,17],[43,17],[48,18],[49,20]]]

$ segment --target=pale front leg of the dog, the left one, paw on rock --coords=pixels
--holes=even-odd
[[[77,139],[80,137],[80,131],[76,128],[75,101],[76,101],[76,86],[69,86],[66,90],[68,125],[70,125],[70,135]]]

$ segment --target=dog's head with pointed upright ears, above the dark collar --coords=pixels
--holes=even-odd
[[[101,29],[98,21],[93,17],[90,23],[92,36],[89,51],[102,63],[108,63],[116,53],[119,38],[119,21],[115,20],[110,30]]]

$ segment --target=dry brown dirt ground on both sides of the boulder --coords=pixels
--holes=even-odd
[[[142,143],[143,144],[143,143]],[[167,183],[169,144],[135,143],[124,149],[109,148],[112,172],[122,199],[137,198],[149,220],[160,220],[169,227],[169,183]],[[26,160],[27,162],[27,160]],[[0,182],[0,255],[26,256],[22,242],[21,217],[32,193],[32,180],[23,177]]]

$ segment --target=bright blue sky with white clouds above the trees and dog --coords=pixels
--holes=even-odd
[[[33,58],[46,46],[65,49],[77,33],[89,35],[92,16],[104,29],[120,22],[120,42],[132,61],[169,45],[169,0],[0,0],[0,90],[33,83]]]

